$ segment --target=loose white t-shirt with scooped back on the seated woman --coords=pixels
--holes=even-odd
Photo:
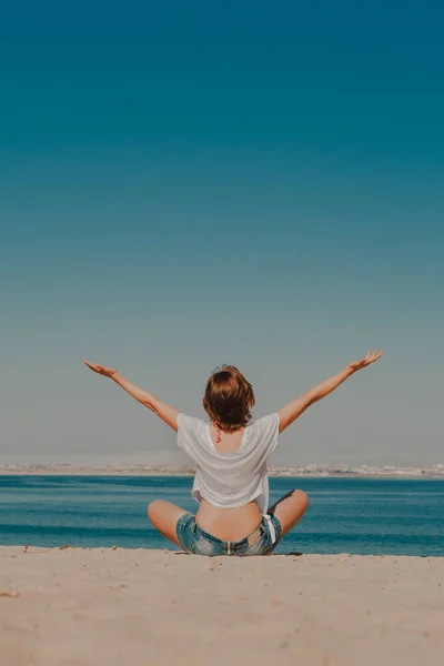
[[[256,500],[264,514],[269,507],[266,461],[278,445],[276,413],[253,421],[243,431],[234,453],[220,453],[211,438],[210,423],[185,414],[178,416],[178,445],[194,461],[193,497],[219,508],[235,508]]]

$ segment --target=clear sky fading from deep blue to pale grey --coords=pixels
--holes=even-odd
[[[444,463],[438,3],[21,2],[0,19],[0,461],[179,462],[82,360],[256,415],[275,462]],[[88,455],[90,457],[88,457]]]

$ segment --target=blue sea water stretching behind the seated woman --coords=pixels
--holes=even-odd
[[[147,518],[165,498],[195,511],[191,477],[0,476],[0,544],[175,548]],[[294,487],[310,508],[278,553],[444,556],[444,481],[270,478],[271,500]]]

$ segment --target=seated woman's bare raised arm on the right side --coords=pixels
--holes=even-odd
[[[360,361],[352,361],[344,370],[341,370],[341,372],[337,374],[324,380],[321,382],[321,384],[317,384],[317,386],[310,389],[310,391],[279,410],[279,432],[282,433],[282,431],[289,427],[293,421],[301,416],[301,414],[303,414],[305,410],[310,407],[310,405],[313,405],[315,402],[325,397],[325,395],[329,395],[329,393],[332,393],[332,391],[337,389],[337,386],[345,382],[345,380],[347,380],[356,371],[367,367],[367,365],[374,363],[377,361],[377,359],[381,359],[383,353],[384,352],[381,352],[380,350],[375,350],[374,352],[369,350],[367,355],[364,356],[364,359],[361,359]]]

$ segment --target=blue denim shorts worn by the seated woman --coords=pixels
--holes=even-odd
[[[185,513],[175,525],[175,535],[182,548],[192,555],[271,555],[281,538],[281,523],[273,515],[264,515],[252,534],[239,542],[232,542],[208,534],[199,527],[193,514]]]

